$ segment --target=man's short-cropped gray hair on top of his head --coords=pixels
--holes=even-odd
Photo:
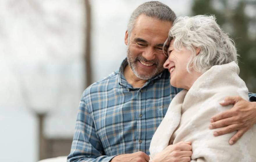
[[[128,26],[127,26],[129,37],[130,37],[131,31],[134,28],[136,19],[141,14],[145,14],[146,16],[156,18],[160,21],[174,22],[174,20],[176,19],[175,13],[167,5],[158,1],[145,2],[139,5],[131,14],[131,17],[129,19]]]

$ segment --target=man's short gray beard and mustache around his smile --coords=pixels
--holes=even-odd
[[[155,64],[156,68],[148,74],[145,73],[139,73],[137,71],[137,67],[136,67],[136,63],[137,61],[144,61],[144,62],[150,62]],[[147,60],[142,56],[137,56],[137,57],[132,57],[130,54],[130,48],[129,48],[129,44],[127,45],[127,62],[129,64],[129,66],[131,67],[131,70],[133,71],[133,73],[135,74],[136,77],[142,79],[142,80],[149,80],[151,78],[153,78],[154,76],[158,75],[159,73],[161,73],[164,68],[163,68],[163,64],[160,64],[159,61],[157,60]],[[152,65],[154,66],[154,65]]]

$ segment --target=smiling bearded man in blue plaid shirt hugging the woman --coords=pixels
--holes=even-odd
[[[127,59],[118,71],[90,85],[81,97],[68,161],[149,161],[151,138],[180,91],[170,86],[169,73],[163,69],[167,58],[162,47],[175,19],[175,13],[157,1],[143,3],[134,10],[125,33]],[[225,126],[215,135],[238,130],[231,139],[235,142],[255,124],[256,105],[239,97],[221,104],[235,106],[213,117],[209,127]],[[239,111],[243,115],[239,116]],[[191,150],[187,145],[183,143],[176,149]],[[185,156],[190,160],[191,155],[172,152],[165,149],[165,159]]]

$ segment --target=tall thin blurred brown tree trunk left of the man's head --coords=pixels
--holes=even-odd
[[[86,71],[86,88],[92,84],[92,73],[91,73],[91,6],[89,0],[85,0],[85,10],[86,10],[86,42],[85,42],[85,71]]]

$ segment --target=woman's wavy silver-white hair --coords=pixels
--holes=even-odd
[[[191,67],[204,73],[214,65],[223,65],[232,61],[237,63],[235,43],[216,23],[214,15],[178,17],[169,31],[166,43],[173,38],[175,49],[180,50],[185,47],[192,53],[187,65],[188,72]],[[200,49],[198,55],[196,55],[197,48]]]

